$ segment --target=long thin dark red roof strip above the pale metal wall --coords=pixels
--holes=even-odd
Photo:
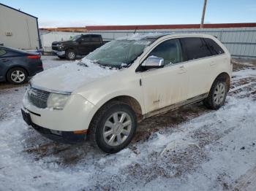
[[[241,27],[256,27],[256,23],[217,23],[217,24],[204,24],[203,25],[203,28],[241,28]],[[146,26],[85,26],[85,28],[88,31],[181,29],[181,28],[200,28],[200,24],[146,25]]]

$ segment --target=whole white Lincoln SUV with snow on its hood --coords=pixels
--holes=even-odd
[[[219,109],[231,72],[230,53],[214,36],[130,36],[33,77],[23,119],[50,139],[87,137],[115,153],[140,120],[198,101]]]

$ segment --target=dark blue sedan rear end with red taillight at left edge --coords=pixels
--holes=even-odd
[[[40,54],[0,46],[0,82],[20,85],[40,71],[43,71]]]

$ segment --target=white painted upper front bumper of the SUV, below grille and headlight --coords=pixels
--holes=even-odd
[[[64,109],[61,110],[38,108],[31,104],[26,96],[27,93],[23,98],[23,110],[29,112],[31,122],[50,130],[87,130],[97,110],[94,104],[78,94],[71,94]]]

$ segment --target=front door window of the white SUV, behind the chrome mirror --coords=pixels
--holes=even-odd
[[[148,57],[154,55],[164,58],[165,66],[182,62],[181,44],[178,39],[170,39],[162,42],[152,50]]]

